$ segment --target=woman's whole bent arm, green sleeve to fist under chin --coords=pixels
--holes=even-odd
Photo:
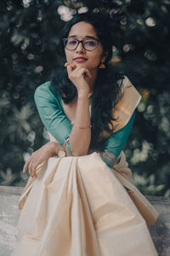
[[[42,119],[43,125],[64,145],[69,140],[68,150],[72,155],[88,154],[88,148],[91,139],[90,129],[90,113],[88,93],[89,87],[84,77],[91,77],[88,69],[83,67],[75,67],[69,65],[69,78],[77,86],[77,110],[74,124],[67,119],[65,113],[59,106],[59,98],[55,99],[54,93],[51,91],[51,84],[42,84],[35,92],[35,102],[37,110]],[[88,126],[87,129],[80,129],[80,126]]]

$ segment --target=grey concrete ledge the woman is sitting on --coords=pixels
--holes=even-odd
[[[16,224],[20,218],[18,201],[22,189],[0,186],[0,256],[9,256],[18,240]],[[146,197],[161,213],[156,224],[150,226],[150,235],[159,256],[170,256],[170,198]]]

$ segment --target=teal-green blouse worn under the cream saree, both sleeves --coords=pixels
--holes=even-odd
[[[51,82],[48,81],[37,87],[34,98],[43,125],[63,145],[70,137],[72,125],[65,115],[59,93],[54,90]],[[133,120],[134,112],[127,125],[119,131],[112,133],[105,140],[105,149],[102,154],[108,166],[114,166],[117,157],[121,153],[122,148],[124,148],[133,127]],[[70,151],[70,145],[68,150]]]

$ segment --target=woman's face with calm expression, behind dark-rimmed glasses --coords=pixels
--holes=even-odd
[[[94,26],[88,22],[81,21],[71,26],[68,38],[83,40],[89,39],[89,37],[99,39],[94,30]],[[88,68],[92,73],[98,69],[101,59],[103,58],[105,60],[101,43],[98,44],[96,49],[91,51],[84,49],[82,43],[80,43],[77,49],[65,49],[65,55],[69,64],[75,63],[76,65],[81,65],[82,67]]]

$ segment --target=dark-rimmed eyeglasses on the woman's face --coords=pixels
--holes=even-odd
[[[70,50],[77,49],[77,47],[80,43],[82,43],[82,47],[84,49],[94,50],[94,49],[96,49],[96,47],[99,44],[99,40],[98,39],[93,39],[93,38],[84,39],[84,40],[78,40],[78,39],[75,39],[75,38],[63,38],[62,40],[63,40],[63,43],[65,45],[65,48],[70,49]]]

